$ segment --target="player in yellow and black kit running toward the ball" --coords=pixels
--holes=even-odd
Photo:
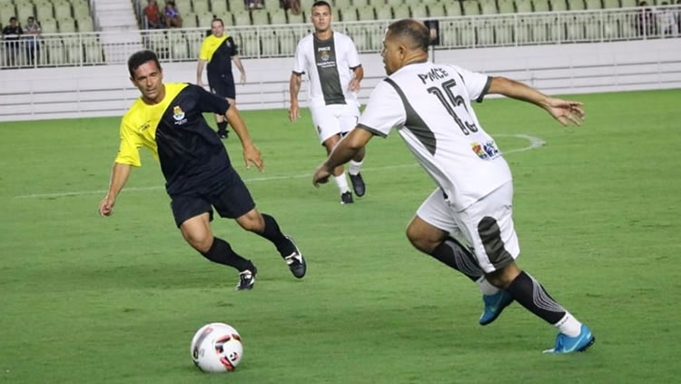
[[[202,113],[218,113],[234,128],[243,147],[246,167],[262,171],[258,148],[236,107],[225,99],[192,84],[163,84],[163,70],[156,54],[140,51],[128,60],[130,80],[142,97],[123,116],[121,144],[111,172],[109,191],[99,204],[102,216],[114,213],[116,196],[133,167],[141,165],[139,148],[149,148],[161,163],[165,189],[170,195],[175,223],[192,248],[206,259],[240,272],[237,290],[250,290],[257,269],[252,261],[232,250],[227,241],[213,237],[212,209],[235,219],[246,231],[271,241],[291,273],[301,279],[306,263],[289,236],[281,233],[271,216],[255,208],[251,193],[232,168],[220,138]]]

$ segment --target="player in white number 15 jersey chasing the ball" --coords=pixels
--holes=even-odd
[[[480,324],[497,319],[516,300],[558,328],[556,345],[548,352],[586,350],[594,342],[587,325],[516,264],[520,249],[511,217],[511,172],[470,102],[503,94],[538,105],[563,125],[579,125],[584,118],[581,103],[548,97],[504,77],[432,64],[428,42],[429,31],[419,22],[390,25],[382,52],[389,77],[370,95],[360,129],[341,140],[313,182],[327,182],[331,170],[361,151],[372,136],[385,137],[396,129],[438,185],[410,222],[407,237],[419,251],[478,283],[485,304]]]

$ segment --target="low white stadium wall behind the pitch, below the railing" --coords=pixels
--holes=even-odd
[[[681,88],[681,38],[437,50],[432,58],[508,76],[547,94]],[[361,61],[365,80],[360,102],[366,103],[384,72],[379,54],[363,54]],[[239,107],[287,108],[292,58],[243,62],[248,82],[237,85]],[[163,68],[166,82],[195,80],[195,62],[166,63]],[[124,65],[5,70],[0,84],[0,121],[119,116],[139,96]]]

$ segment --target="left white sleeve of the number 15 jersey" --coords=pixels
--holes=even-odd
[[[393,127],[403,125],[406,120],[407,113],[400,95],[383,81],[371,92],[357,126],[374,135],[386,137]]]

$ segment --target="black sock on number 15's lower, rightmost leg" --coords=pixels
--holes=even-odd
[[[546,320],[549,324],[556,324],[565,316],[566,310],[548,295],[539,281],[534,280],[524,271],[508,284],[506,289],[513,299],[530,312]]]

